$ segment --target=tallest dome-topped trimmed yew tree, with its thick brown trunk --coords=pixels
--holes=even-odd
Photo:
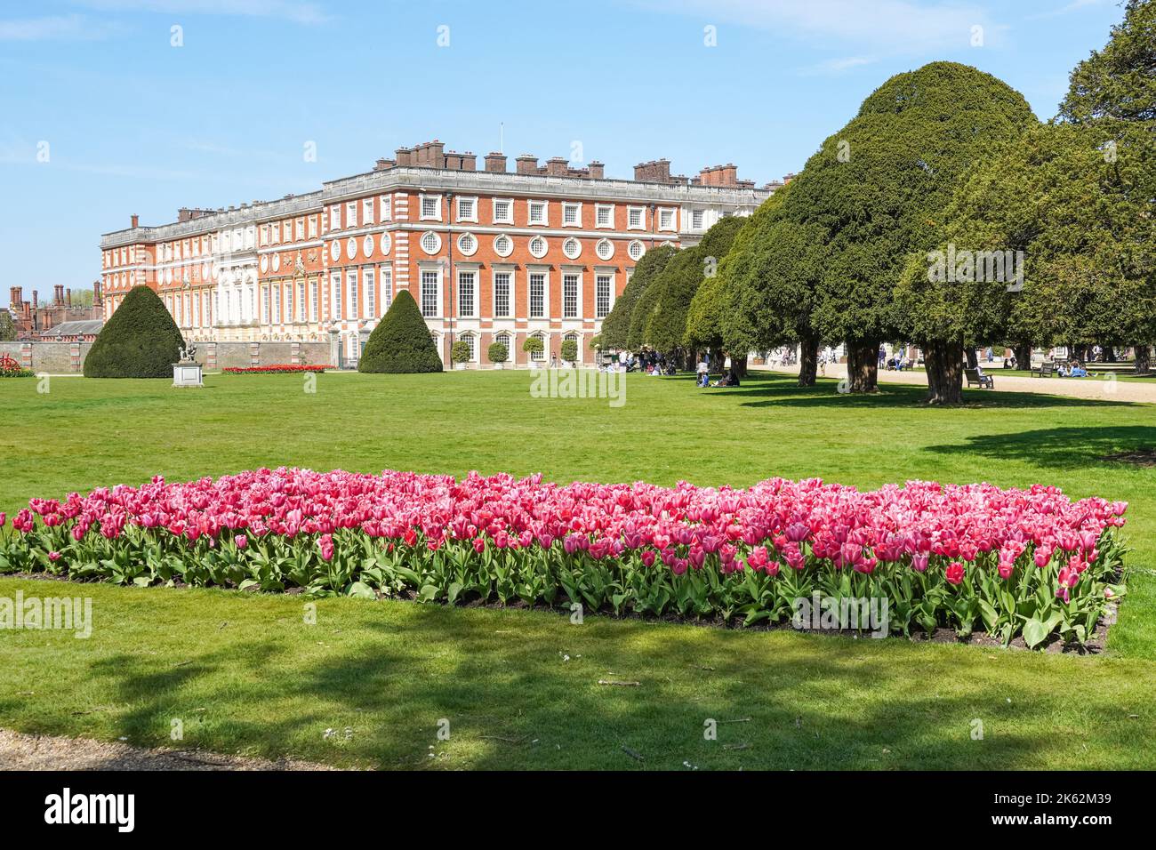
[[[852,392],[876,389],[880,342],[909,334],[894,291],[909,257],[939,236],[959,180],[1035,124],[1023,96],[991,74],[932,62],[880,86],[807,161],[785,215],[827,235],[812,321],[820,338],[846,342]]]

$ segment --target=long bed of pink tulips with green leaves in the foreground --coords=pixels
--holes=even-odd
[[[32,500],[0,535],[0,571],[743,624],[788,621],[818,593],[885,599],[892,633],[981,628],[1035,646],[1057,633],[1084,642],[1122,592],[1126,508],[1038,485],[862,493],[817,479],[716,489],[258,470]]]

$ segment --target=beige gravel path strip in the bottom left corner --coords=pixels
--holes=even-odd
[[[332,770],[294,759],[251,759],[195,749],[143,749],[120,741],[0,729],[0,770]]]

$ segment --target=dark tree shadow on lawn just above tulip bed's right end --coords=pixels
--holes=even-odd
[[[1107,466],[1136,470],[1143,467],[1110,460],[1107,456],[1153,448],[1156,448],[1156,427],[1102,426],[976,434],[963,443],[931,445],[925,451],[939,454],[980,454],[993,460],[1022,460],[1055,468]]]

